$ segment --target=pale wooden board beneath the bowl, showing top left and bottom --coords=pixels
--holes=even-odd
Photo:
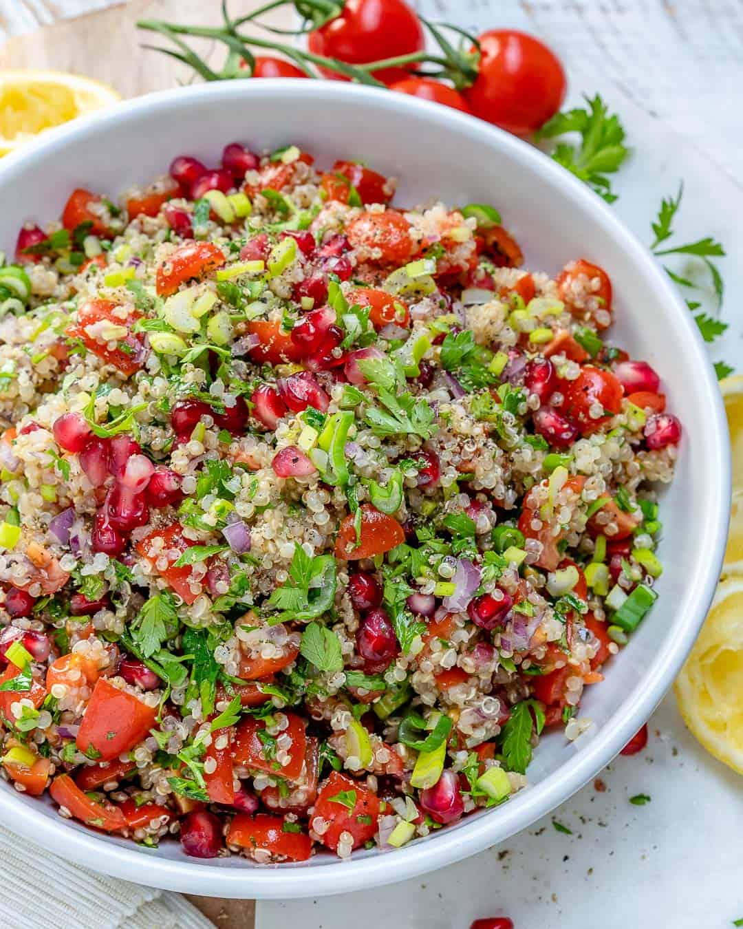
[[[230,12],[245,13],[257,6],[254,0],[232,0]],[[289,13],[282,15],[291,17]],[[221,21],[220,4],[218,0],[131,0],[75,20],[62,20],[35,33],[10,39],[0,48],[0,68],[79,72],[110,84],[123,97],[137,97],[152,90],[192,82],[194,73],[189,68],[143,47],[165,46],[167,42],[161,41],[155,33],[137,30],[138,19],[215,26]],[[280,24],[281,19],[272,21]],[[202,42],[198,47],[199,54],[214,67],[221,65],[225,57],[222,46]],[[189,900],[219,929],[254,927],[254,900],[202,896],[189,896]]]

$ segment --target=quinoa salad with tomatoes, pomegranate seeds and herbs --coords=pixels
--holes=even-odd
[[[606,272],[241,145],[0,268],[3,777],[195,857],[399,846],[523,788],[652,606],[681,426]],[[609,662],[610,663],[610,662]]]

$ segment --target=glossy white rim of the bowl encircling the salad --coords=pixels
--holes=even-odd
[[[174,111],[187,111],[193,101],[204,97],[228,104],[246,96],[277,99],[290,96],[293,105],[301,105],[303,101],[317,104],[319,98],[332,105],[349,94],[358,98],[359,107],[369,103],[388,111],[424,115],[442,128],[453,125],[470,137],[479,137],[483,144],[502,150],[515,161],[528,166],[546,185],[562,188],[574,203],[580,204],[591,215],[593,222],[602,226],[614,241],[620,242],[623,250],[643,267],[658,296],[674,308],[681,330],[679,337],[691,340],[699,362],[696,376],[700,381],[698,388],[705,395],[706,445],[709,450],[707,483],[710,509],[705,525],[699,530],[699,550],[705,552],[705,558],[693,579],[695,588],[690,595],[689,608],[677,621],[677,635],[650,664],[642,678],[643,687],[634,687],[628,699],[622,702],[621,718],[615,714],[581,752],[538,785],[499,807],[497,816],[483,815],[464,820],[456,831],[443,831],[429,841],[397,849],[393,857],[376,853],[347,861],[339,859],[330,865],[312,868],[284,865],[241,869],[176,861],[157,857],[134,844],[123,847],[101,841],[106,837],[87,831],[83,826],[72,825],[71,828],[71,823],[62,818],[49,818],[33,805],[18,803],[13,792],[0,791],[2,820],[12,831],[32,841],[41,839],[48,851],[124,880],[208,896],[264,899],[327,896],[395,883],[436,870],[526,829],[595,777],[645,723],[671,686],[673,677],[694,644],[718,582],[730,508],[730,451],[723,399],[697,327],[658,263],[608,205],[552,159],[521,139],[465,113],[376,87],[284,78],[191,85],[127,100],[47,131],[30,150],[13,152],[0,162],[0,190],[11,184],[15,177],[45,163],[51,153],[63,152],[68,141],[105,133],[107,126],[121,121],[136,124],[143,113],[163,111],[172,115]],[[449,840],[445,838],[447,835]]]

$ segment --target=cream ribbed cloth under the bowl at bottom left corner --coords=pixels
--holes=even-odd
[[[0,826],[0,929],[214,929],[178,894],[96,874]]]

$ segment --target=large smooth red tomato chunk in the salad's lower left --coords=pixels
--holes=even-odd
[[[99,677],[88,702],[75,744],[81,752],[95,749],[111,761],[133,749],[155,725],[157,708]]]

